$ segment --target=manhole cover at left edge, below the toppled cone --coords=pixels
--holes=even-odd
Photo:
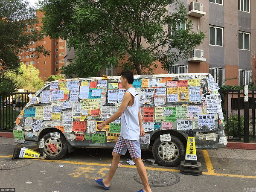
[[[0,161],[0,169],[16,169],[30,165],[32,162],[28,159],[14,159]]]

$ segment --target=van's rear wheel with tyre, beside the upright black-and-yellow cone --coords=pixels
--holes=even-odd
[[[161,166],[169,166],[174,167],[180,164],[180,161],[185,157],[185,148],[183,143],[175,137],[171,136],[171,141],[163,141],[161,142],[160,137],[154,141],[152,152],[154,159],[159,163]],[[163,157],[163,150],[164,148],[169,148],[169,159],[164,159]]]

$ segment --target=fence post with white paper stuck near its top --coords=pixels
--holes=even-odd
[[[249,143],[249,89],[244,85],[244,142]]]

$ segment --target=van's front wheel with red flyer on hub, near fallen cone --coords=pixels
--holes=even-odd
[[[44,148],[40,148],[40,151],[48,160],[59,160],[67,154],[67,141],[63,134],[61,134],[61,138],[54,139],[53,136],[51,137],[51,133],[56,133],[56,131],[44,135]],[[47,147],[49,143],[53,143],[57,147],[53,153]]]

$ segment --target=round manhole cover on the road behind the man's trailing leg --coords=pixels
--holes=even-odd
[[[147,175],[150,186],[169,186],[180,181],[180,177],[178,175],[170,172],[147,170]],[[134,175],[134,180],[142,184],[138,173]]]

